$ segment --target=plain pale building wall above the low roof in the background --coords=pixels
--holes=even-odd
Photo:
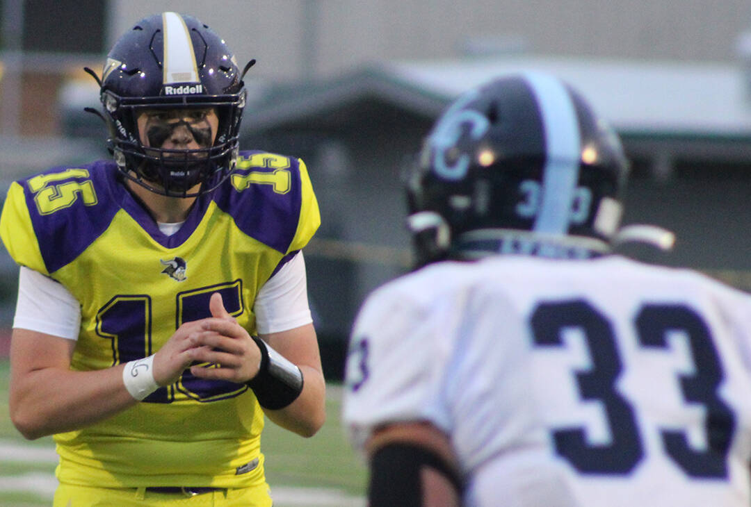
[[[329,76],[384,58],[455,57],[468,46],[553,55],[729,61],[748,0],[113,0],[112,41],[161,10],[192,13],[256,76]]]

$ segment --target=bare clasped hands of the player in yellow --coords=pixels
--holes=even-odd
[[[154,379],[159,386],[176,382],[186,368],[201,379],[234,383],[246,383],[258,374],[261,351],[228,314],[221,294],[211,295],[209,308],[212,317],[182,324],[155,354]]]

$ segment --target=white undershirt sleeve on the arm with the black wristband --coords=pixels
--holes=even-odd
[[[253,309],[255,326],[261,335],[313,322],[303,252],[297,252],[258,290]]]

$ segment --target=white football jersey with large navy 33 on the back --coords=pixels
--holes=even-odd
[[[751,505],[751,296],[623,257],[445,262],[369,296],[344,420],[445,431],[466,505]]]

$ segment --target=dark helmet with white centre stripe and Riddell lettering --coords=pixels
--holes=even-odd
[[[239,150],[243,74],[225,41],[194,17],[166,12],[136,23],[110,50],[100,83],[108,144],[122,174],[167,196],[196,196],[221,184]],[[140,141],[144,111],[209,109],[219,117],[213,145],[163,149]]]

